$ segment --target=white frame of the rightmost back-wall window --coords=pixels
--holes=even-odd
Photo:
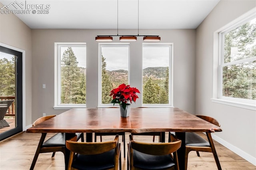
[[[174,107],[173,106],[173,43],[142,43],[142,51],[143,47],[169,47],[169,104],[143,104],[143,81],[142,81],[142,107]],[[143,57],[143,54],[142,54]],[[143,60],[143,58],[142,58]],[[142,61],[143,63],[143,61]],[[143,74],[142,74],[143,76]],[[143,79],[143,77],[141,77]]]

